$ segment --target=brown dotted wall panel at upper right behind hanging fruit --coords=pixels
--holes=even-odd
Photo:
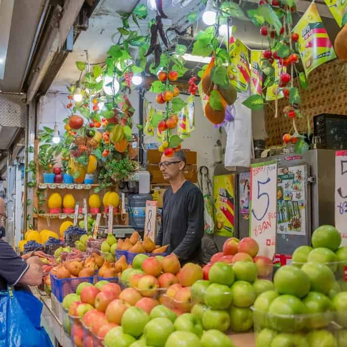
[[[294,86],[298,85],[295,78]],[[347,64],[340,60],[325,63],[311,72],[308,77],[309,88],[300,89],[301,112],[296,127],[299,132],[307,133],[307,117],[313,132],[313,117],[321,113],[347,115]],[[265,123],[268,138],[267,146],[282,145],[282,137],[292,128],[292,120],[283,116],[282,110],[288,105],[283,98],[278,101],[278,117],[275,118],[275,102],[265,107]]]

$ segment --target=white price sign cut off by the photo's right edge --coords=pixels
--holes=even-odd
[[[347,246],[347,151],[335,155],[335,227]]]

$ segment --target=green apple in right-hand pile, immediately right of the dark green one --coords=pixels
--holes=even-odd
[[[302,265],[301,270],[309,277],[311,291],[329,293],[335,282],[335,276],[329,267],[324,264],[309,262]]]

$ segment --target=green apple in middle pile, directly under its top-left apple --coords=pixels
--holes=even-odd
[[[212,283],[205,292],[204,302],[214,310],[227,309],[233,300],[232,289],[224,284]]]

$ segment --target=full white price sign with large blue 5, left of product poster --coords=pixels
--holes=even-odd
[[[276,247],[277,162],[251,165],[249,234],[259,244],[258,255],[273,258]]]

